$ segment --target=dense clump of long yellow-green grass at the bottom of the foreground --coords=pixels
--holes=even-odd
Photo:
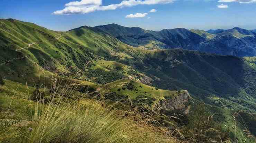
[[[28,141],[68,143],[165,143],[160,132],[123,119],[118,112],[97,101],[79,101],[70,106],[48,105],[34,117],[36,123]]]

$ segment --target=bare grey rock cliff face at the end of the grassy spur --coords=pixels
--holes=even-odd
[[[188,102],[190,99],[191,97],[188,91],[180,91],[176,97],[157,101],[154,104],[154,109],[162,113],[179,111],[188,114],[190,109]]]

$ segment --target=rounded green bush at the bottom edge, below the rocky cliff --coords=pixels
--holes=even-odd
[[[180,130],[184,139],[193,142],[229,142],[230,131],[223,130],[222,124],[213,118],[205,104],[191,107],[186,126]],[[185,119],[186,120],[186,119]]]

